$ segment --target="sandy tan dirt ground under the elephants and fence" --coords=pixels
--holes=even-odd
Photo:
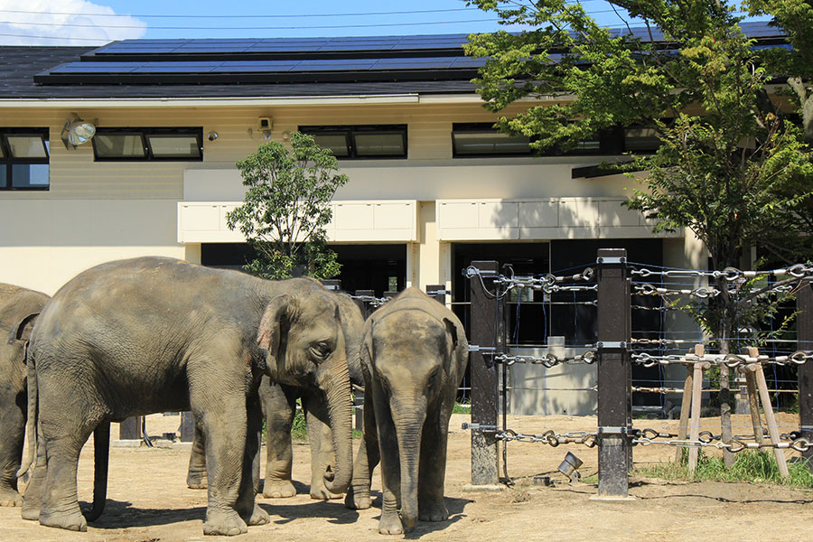
[[[509,475],[515,485],[503,491],[465,491],[471,481],[470,436],[461,429],[468,416],[454,415],[446,467],[446,505],[450,519],[418,523],[406,535],[421,540],[672,540],[728,541],[788,540],[813,537],[813,489],[791,490],[760,483],[676,483],[631,479],[633,500],[596,501],[595,483],[569,483],[556,467],[571,451],[584,461],[586,477],[598,470],[596,448],[545,444],[509,444]],[[150,416],[147,432],[176,431],[179,416]],[[719,433],[719,421],[705,420],[704,429]],[[636,420],[636,427],[674,430],[677,422]],[[740,426],[742,425],[742,427]],[[795,426],[794,426],[795,425]],[[780,419],[780,430],[798,428],[797,416]],[[594,431],[594,417],[510,416],[509,427],[523,433]],[[743,419],[735,419],[734,434],[747,433]],[[114,430],[115,438],[115,430]],[[795,453],[789,453],[792,457]],[[636,446],[634,462],[667,462],[675,448]],[[92,446],[86,445],[79,462],[79,499],[89,500],[92,487]],[[0,509],[2,542],[175,542],[226,537],[204,537],[202,519],[206,491],[186,488],[189,451],[175,448],[119,448],[110,453],[107,508],[87,533],[45,528],[23,521],[19,509]],[[501,467],[500,467],[501,471]],[[501,472],[500,472],[501,474]],[[552,487],[533,484],[537,474],[549,475]],[[373,508],[345,509],[343,501],[311,500],[307,486],[310,466],[307,444],[294,444],[293,499],[259,503],[271,523],[248,528],[242,542],[308,540],[313,542],[384,540],[378,535],[380,480],[373,481]],[[393,537],[389,537],[393,538]]]

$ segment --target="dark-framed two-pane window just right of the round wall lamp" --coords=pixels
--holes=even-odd
[[[203,128],[97,128],[93,155],[106,160],[203,160]]]

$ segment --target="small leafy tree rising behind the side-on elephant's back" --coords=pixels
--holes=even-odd
[[[243,204],[227,213],[227,224],[257,254],[244,267],[252,275],[330,278],[340,266],[327,248],[325,227],[333,194],[349,179],[336,173],[336,157],[313,136],[292,132],[290,142],[287,149],[270,141],[237,163],[248,190]]]

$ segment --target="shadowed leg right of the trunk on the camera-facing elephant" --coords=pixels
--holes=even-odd
[[[449,409],[451,414],[451,408]],[[444,503],[446,444],[449,414],[430,413],[421,434],[420,474],[418,478],[418,519],[444,521],[449,510]]]

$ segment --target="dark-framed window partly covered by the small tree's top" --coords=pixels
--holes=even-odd
[[[406,125],[299,126],[341,159],[406,158]]]

